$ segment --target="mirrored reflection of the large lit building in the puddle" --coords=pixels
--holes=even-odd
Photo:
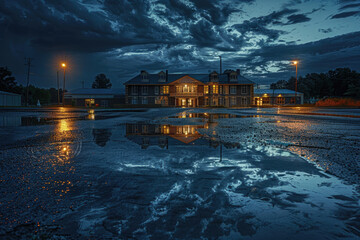
[[[211,124],[211,123],[210,123]],[[126,137],[146,149],[149,146],[168,148],[169,145],[204,145],[217,148],[224,145],[226,148],[238,147],[238,143],[222,143],[219,139],[205,138],[197,130],[209,128],[205,125],[169,125],[169,124],[126,124]],[[234,145],[235,144],[235,145]]]

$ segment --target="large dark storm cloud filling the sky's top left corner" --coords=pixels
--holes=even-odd
[[[102,52],[127,45],[175,42],[168,28],[144,14],[148,6],[140,1],[106,0],[104,8],[114,17],[90,12],[75,1],[7,2],[0,7],[1,25],[6,26],[7,34],[25,33],[32,45],[53,50]]]

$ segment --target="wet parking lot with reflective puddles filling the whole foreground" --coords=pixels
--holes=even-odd
[[[357,239],[359,113],[0,110],[0,238]]]

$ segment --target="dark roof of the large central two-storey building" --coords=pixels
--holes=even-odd
[[[181,74],[168,74],[168,81],[166,82],[159,82],[159,74],[148,74],[149,81],[143,82],[141,74],[133,77],[129,81],[125,82],[124,84],[169,84],[172,82],[175,82],[176,80],[189,76],[191,78],[194,78],[202,83],[209,83],[210,77],[209,74],[188,74],[188,73],[181,73]],[[250,81],[249,79],[245,78],[242,75],[237,75],[237,82],[228,80],[227,74],[219,74],[219,83],[233,83],[233,84],[255,84],[253,81]]]

